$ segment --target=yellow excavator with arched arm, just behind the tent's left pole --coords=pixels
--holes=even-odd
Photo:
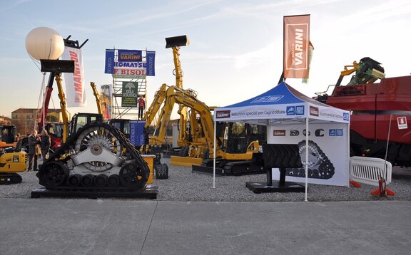
[[[243,123],[218,123],[214,127],[210,108],[190,90],[183,90],[171,86],[166,93],[166,101],[161,109],[161,121],[157,136],[152,137],[153,143],[160,142],[165,128],[161,126],[170,118],[173,105],[183,105],[190,108],[198,115],[198,130],[201,133],[197,140],[190,143],[189,155],[187,157],[171,156],[172,165],[193,166],[194,172],[212,172],[209,161],[213,159],[215,146],[215,157],[217,158],[218,171],[226,175],[243,175],[260,173],[263,171],[262,157],[259,153],[260,142],[265,142],[265,126],[248,125]],[[214,145],[214,128],[217,128],[217,144]],[[197,157],[196,155],[201,155]],[[254,159],[254,160],[253,160]]]

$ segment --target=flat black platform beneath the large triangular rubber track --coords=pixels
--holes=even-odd
[[[40,197],[85,197],[89,199],[126,197],[141,199],[156,199],[158,193],[157,185],[146,185],[142,189],[46,189],[45,187],[34,189],[31,198]]]

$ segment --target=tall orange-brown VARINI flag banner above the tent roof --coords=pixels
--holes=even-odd
[[[308,78],[310,15],[284,16],[284,78]]]

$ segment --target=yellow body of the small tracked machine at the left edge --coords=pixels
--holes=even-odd
[[[0,152],[0,172],[26,171],[26,152]]]

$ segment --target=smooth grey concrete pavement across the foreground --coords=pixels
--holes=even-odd
[[[409,254],[411,202],[0,199],[0,254]]]

